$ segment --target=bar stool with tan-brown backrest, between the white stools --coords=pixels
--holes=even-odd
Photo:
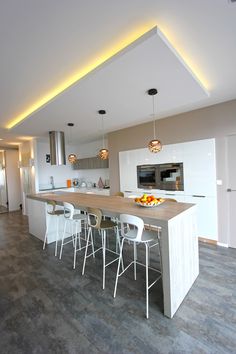
[[[119,254],[117,254],[115,251],[113,251],[109,248],[106,248],[107,230],[113,229],[116,232],[116,240],[120,246],[120,236],[118,233],[118,227],[117,227],[116,222],[109,220],[109,219],[103,219],[102,211],[100,209],[88,208],[87,213],[88,213],[88,237],[87,237],[87,244],[86,244],[86,249],[85,249],[85,254],[84,254],[82,275],[84,275],[87,258],[89,258],[91,255],[94,256],[94,254],[96,252],[102,250],[102,254],[103,254],[102,288],[105,289],[106,267],[108,267],[110,264],[112,264],[113,262],[115,262],[119,259]],[[98,249],[96,249],[94,252],[88,254],[89,242],[90,242],[90,244],[92,244],[92,239],[93,239],[92,229],[97,230],[100,233],[101,238],[102,238],[102,246],[99,247]],[[89,241],[90,239],[91,239],[91,241]],[[116,257],[111,262],[106,263],[106,251],[114,253],[118,257]]]

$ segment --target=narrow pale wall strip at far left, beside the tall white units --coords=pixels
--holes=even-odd
[[[20,170],[18,150],[6,150],[6,178],[9,211],[19,210],[21,199]]]

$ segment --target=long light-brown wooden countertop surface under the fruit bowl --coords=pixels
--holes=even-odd
[[[63,204],[63,202],[69,202],[81,209],[86,207],[99,208],[104,213],[107,211],[108,213],[114,214],[132,214],[144,219],[150,218],[162,221],[169,221],[194,206],[194,204],[190,203],[173,203],[166,201],[156,207],[145,208],[136,205],[131,198],[64,191],[61,191],[60,194],[58,192],[49,192],[31,194],[27,197],[41,202],[54,200],[59,205]]]

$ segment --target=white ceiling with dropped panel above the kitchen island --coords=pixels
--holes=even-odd
[[[209,96],[151,32],[137,46],[64,91],[23,123],[15,116],[124,38],[154,26],[204,79]],[[144,32],[144,30],[142,32]],[[74,122],[74,142],[236,98],[236,4],[228,0],[8,0],[0,3],[0,145],[47,136]]]

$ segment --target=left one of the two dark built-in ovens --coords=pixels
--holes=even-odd
[[[137,166],[138,188],[156,188],[157,170],[156,165]]]

